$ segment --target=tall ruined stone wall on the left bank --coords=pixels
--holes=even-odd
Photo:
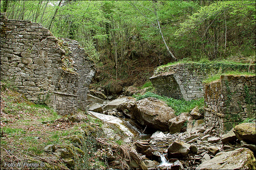
[[[86,109],[95,69],[77,41],[58,40],[39,23],[8,20],[4,14],[0,26],[1,80],[13,82],[32,102],[49,99],[46,104],[58,114]],[[65,57],[73,71],[63,69]]]

